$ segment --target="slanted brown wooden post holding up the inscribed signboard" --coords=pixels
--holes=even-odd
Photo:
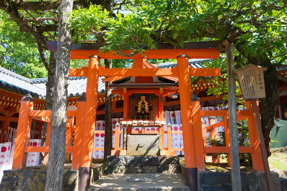
[[[267,182],[267,187],[269,191],[273,191],[273,183],[272,183],[272,177],[269,169],[269,164],[268,164],[268,158],[267,158],[267,153],[266,153],[266,148],[264,144],[264,138],[263,138],[263,133],[262,133],[262,127],[261,127],[261,121],[260,121],[260,116],[259,116],[259,111],[257,108],[257,103],[255,99],[251,99],[251,105],[253,109],[253,117],[256,120],[256,131],[257,131],[257,136],[258,136],[258,141],[259,141],[259,147],[261,151],[261,157],[263,160],[263,167],[264,167],[264,172],[265,172],[265,177],[266,177],[266,182]]]

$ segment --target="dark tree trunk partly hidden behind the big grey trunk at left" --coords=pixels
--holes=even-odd
[[[50,52],[49,67],[51,70],[55,71],[56,59],[54,53]],[[45,110],[51,109],[53,106],[53,92],[54,92],[54,74],[48,72],[48,79],[46,83],[46,101],[45,101]],[[44,122],[44,128],[41,131],[41,143],[42,146],[45,146],[46,143],[46,134],[47,134],[47,123]],[[40,164],[43,164],[44,153],[40,155]]]

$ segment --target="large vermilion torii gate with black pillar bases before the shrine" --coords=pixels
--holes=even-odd
[[[192,68],[189,67],[188,59],[203,58],[217,59],[218,50],[210,48],[210,42],[201,42],[204,48],[196,47],[186,49],[157,49],[143,52],[146,59],[177,59],[177,67],[174,68],[143,68],[144,56],[136,54],[133,56],[132,68],[104,68],[100,66],[101,59],[127,59],[127,57],[116,56],[114,53],[104,53],[99,50],[71,50],[71,59],[89,59],[87,68],[70,69],[69,76],[87,76],[86,107],[83,120],[82,141],[75,140],[75,144],[81,144],[81,151],[73,154],[73,162],[79,162],[79,176],[88,175],[92,165],[92,151],[94,141],[95,117],[97,109],[97,92],[99,76],[178,76],[179,94],[182,113],[183,145],[185,151],[185,174],[187,185],[190,188],[197,188],[197,170],[204,171],[204,150],[201,129],[201,117],[199,104],[191,105],[191,83],[190,76],[219,76],[217,68]],[[187,46],[188,44],[185,44]],[[199,44],[197,44],[199,45]],[[49,46],[49,45],[48,45]],[[208,47],[208,48],[206,48]],[[129,54],[129,50],[125,50]],[[94,56],[98,55],[98,56]],[[131,58],[129,58],[131,59]],[[193,116],[195,114],[196,116]],[[161,116],[158,116],[161,117]],[[196,133],[196,134],[195,134]],[[76,132],[75,132],[76,134]],[[76,139],[76,137],[75,137]],[[77,145],[74,145],[77,146]],[[79,155],[79,153],[81,153]],[[79,160],[78,160],[79,159]],[[87,176],[88,177],[88,176]],[[82,179],[81,178],[81,179]],[[88,178],[87,178],[88,179]],[[88,181],[88,180],[87,180]],[[196,189],[197,190],[197,189]]]

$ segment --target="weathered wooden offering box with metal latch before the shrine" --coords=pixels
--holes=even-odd
[[[160,141],[158,134],[127,135],[127,155],[159,156]]]

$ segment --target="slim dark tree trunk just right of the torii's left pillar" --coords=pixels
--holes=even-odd
[[[112,60],[105,59],[105,68],[112,68]],[[111,89],[106,87],[105,92],[105,142],[104,142],[104,160],[111,154],[112,150],[112,93]]]

